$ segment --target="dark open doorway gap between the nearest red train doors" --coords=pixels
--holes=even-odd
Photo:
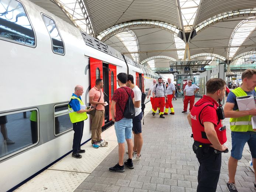
[[[104,83],[104,87],[103,90],[105,92],[104,94],[104,101],[108,101],[109,100],[109,74],[108,74],[108,64],[107,63],[103,63],[103,83]],[[105,125],[109,122],[109,106],[107,105],[105,107]]]

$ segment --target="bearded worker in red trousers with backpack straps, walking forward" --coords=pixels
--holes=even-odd
[[[157,108],[160,107],[159,117],[165,118],[163,116],[163,111],[165,108],[165,100],[167,101],[167,92],[166,92],[166,87],[164,84],[162,84],[162,82],[163,82],[162,77],[159,77],[158,83],[154,86],[152,90],[153,98],[155,98],[152,115],[155,116]]]

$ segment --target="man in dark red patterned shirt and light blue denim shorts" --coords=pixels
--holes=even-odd
[[[126,86],[126,82],[127,74],[119,73],[117,75],[117,83],[120,88],[114,91],[111,101],[110,111],[113,117],[112,121],[115,122],[115,134],[117,135],[119,156],[118,163],[114,167],[109,168],[112,172],[124,172],[124,165],[130,169],[134,168],[132,163],[132,119],[124,117],[124,109],[128,97],[131,95],[132,101],[134,102],[134,92]],[[128,160],[124,163],[125,139],[128,145]]]

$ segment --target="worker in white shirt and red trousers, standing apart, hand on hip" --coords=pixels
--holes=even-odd
[[[188,81],[188,84],[185,86],[183,93],[184,93],[184,108],[182,113],[187,112],[187,105],[189,102],[189,111],[193,108],[194,102],[195,102],[195,94],[199,90],[199,87],[197,85],[192,84],[192,80]]]

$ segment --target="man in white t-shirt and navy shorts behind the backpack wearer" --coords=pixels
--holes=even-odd
[[[141,159],[141,148],[143,143],[142,133],[141,133],[141,90],[137,85],[134,84],[134,77],[128,74],[128,79],[126,83],[127,87],[130,87],[134,92],[134,107],[135,107],[135,117],[132,119],[132,132],[134,133],[134,147],[133,147],[133,157],[132,161],[137,161]],[[128,153],[128,151],[127,151]]]

